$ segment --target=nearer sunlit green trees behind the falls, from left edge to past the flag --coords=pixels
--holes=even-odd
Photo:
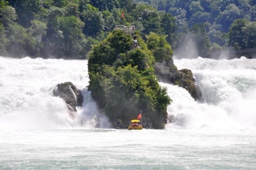
[[[0,55],[86,58],[118,24],[174,41],[172,15],[132,0],[0,0]]]

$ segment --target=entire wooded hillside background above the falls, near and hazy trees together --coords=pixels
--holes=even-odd
[[[166,36],[181,55],[254,48],[256,1],[0,0],[0,55],[86,58],[115,25]]]

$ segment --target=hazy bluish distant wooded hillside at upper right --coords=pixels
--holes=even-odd
[[[256,1],[255,0],[135,0],[137,3],[151,5],[158,10],[164,10],[172,14],[177,21],[176,35],[178,36],[178,45],[186,43],[196,43],[196,46],[203,47],[204,51],[199,49],[199,54],[204,54],[212,48],[219,46],[235,46],[235,48],[256,47],[256,39],[251,32],[255,29],[256,21]],[[230,26],[237,19],[248,21],[247,25],[240,25],[243,31],[230,31]],[[194,41],[191,27],[195,23],[204,23],[208,38]],[[254,25],[254,27],[253,27]],[[192,28],[193,29],[193,28]],[[198,31],[196,31],[196,34]],[[233,37],[232,37],[233,36]],[[246,40],[248,36],[249,40]],[[198,41],[198,38],[196,38]],[[231,44],[231,39],[234,44]],[[192,41],[192,42],[191,42]],[[205,41],[205,43],[202,43]],[[209,41],[209,42],[206,42]],[[212,48],[209,48],[209,43]],[[182,46],[184,48],[184,46]]]

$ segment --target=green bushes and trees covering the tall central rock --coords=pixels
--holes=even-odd
[[[136,36],[141,48],[131,49],[132,36],[122,30],[94,46],[88,61],[89,90],[111,120],[128,122],[142,111],[154,128],[163,128],[170,98],[154,75],[152,52]]]

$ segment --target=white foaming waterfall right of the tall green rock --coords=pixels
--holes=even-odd
[[[196,102],[184,89],[170,84],[173,102],[168,113],[177,126],[220,129],[256,128],[256,59],[175,60],[178,69],[191,69],[202,92]],[[169,124],[170,127],[170,124]]]

